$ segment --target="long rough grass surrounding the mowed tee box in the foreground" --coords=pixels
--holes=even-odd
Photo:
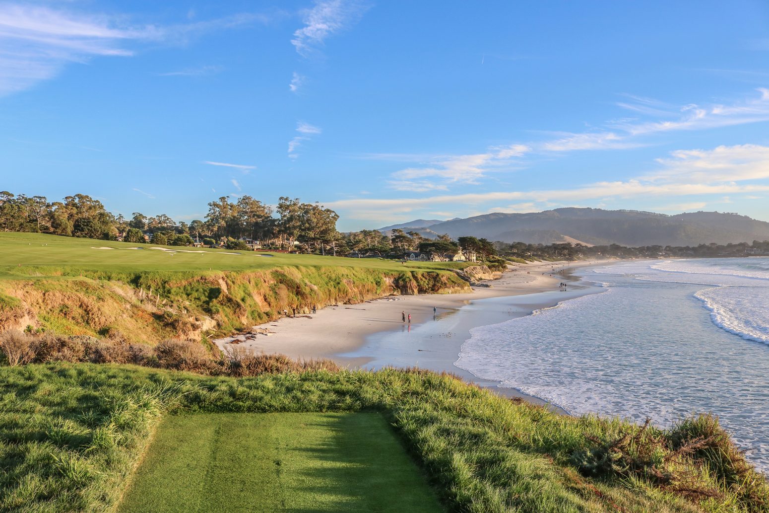
[[[552,414],[429,373],[234,379],[48,364],[0,368],[0,389],[0,511],[112,511],[167,411],[381,412],[449,511],[769,511],[765,485],[754,489],[763,499],[747,500],[743,485],[721,482],[714,470],[697,471],[721,487],[699,505],[638,476],[583,477],[571,465],[574,451],[638,427]]]

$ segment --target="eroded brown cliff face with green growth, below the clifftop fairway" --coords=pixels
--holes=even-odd
[[[208,334],[228,334],[275,320],[293,308],[308,312],[313,306],[361,303],[393,294],[467,290],[468,283],[451,271],[357,267],[36,275],[0,281],[0,330],[156,344],[168,338],[201,340]]]

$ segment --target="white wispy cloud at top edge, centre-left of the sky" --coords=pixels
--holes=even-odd
[[[315,0],[312,8],[301,12],[305,26],[294,32],[291,44],[300,55],[316,52],[326,38],[355,25],[368,7],[356,0]]]

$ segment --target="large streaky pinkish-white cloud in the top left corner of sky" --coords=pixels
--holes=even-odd
[[[180,43],[221,28],[267,22],[239,14],[180,25],[131,23],[125,15],[49,8],[22,2],[0,3],[0,96],[52,79],[72,62],[94,57],[128,57],[147,42]]]

